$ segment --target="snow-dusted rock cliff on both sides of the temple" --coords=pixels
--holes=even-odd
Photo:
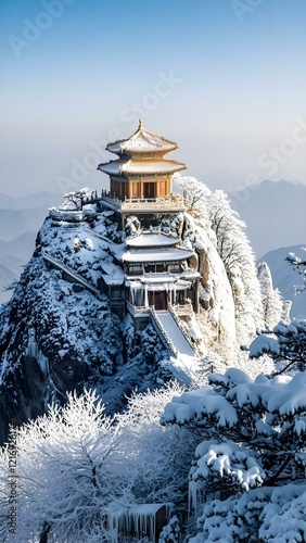
[[[158,364],[167,353],[154,331],[149,326],[133,333],[130,319],[120,323],[107,296],[94,290],[103,263],[112,264],[123,243],[110,212],[88,211],[74,223],[46,219],[11,301],[0,310],[1,442],[9,421],[43,414],[68,391],[95,387],[114,411],[132,390],[161,382]],[[180,230],[183,244],[196,251],[204,343],[213,351],[228,348],[234,342],[233,300],[212,232],[182,214],[163,227]]]

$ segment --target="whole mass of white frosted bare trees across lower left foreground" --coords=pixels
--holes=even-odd
[[[18,535],[22,541],[110,541],[109,518],[123,507],[175,502],[184,508],[194,441],[188,429],[163,427],[176,384],[135,394],[124,414],[104,414],[92,392],[17,432]],[[0,540],[10,526],[9,449],[0,453]]]

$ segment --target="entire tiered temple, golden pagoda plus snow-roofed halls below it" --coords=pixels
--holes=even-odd
[[[189,319],[199,311],[197,255],[161,229],[161,218],[186,210],[182,197],[171,193],[173,175],[186,165],[164,159],[177,144],[144,130],[140,119],[130,138],[106,149],[118,160],[99,165],[110,176],[102,203],[122,216],[127,238],[120,256],[114,255],[113,277],[105,270],[102,290],[113,311],[132,316],[136,329],[148,325],[152,308]]]

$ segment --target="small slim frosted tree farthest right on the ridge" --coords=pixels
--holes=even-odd
[[[280,291],[273,289],[272,276],[266,262],[260,262],[257,269],[257,277],[260,285],[264,323],[267,328],[276,326],[282,316],[282,299]]]

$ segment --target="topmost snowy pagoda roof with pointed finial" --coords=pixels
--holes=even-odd
[[[165,154],[177,149],[177,143],[143,129],[139,119],[138,129],[127,139],[107,143],[106,150],[116,154]]]

